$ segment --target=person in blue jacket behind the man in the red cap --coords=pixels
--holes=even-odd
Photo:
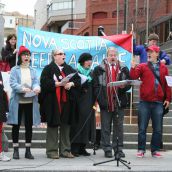
[[[159,36],[155,33],[151,33],[148,37],[148,44],[147,45],[136,45],[136,41],[134,39],[133,42],[133,53],[134,55],[140,56],[140,63],[147,62],[147,52],[146,48],[151,45],[157,45],[159,41]],[[160,51],[159,59],[162,63],[166,65],[170,65],[170,57],[164,52]]]

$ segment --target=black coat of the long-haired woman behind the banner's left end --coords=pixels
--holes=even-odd
[[[13,54],[14,49],[9,46],[5,46],[1,50],[2,60],[7,61],[10,64],[10,68],[16,65],[16,54]]]

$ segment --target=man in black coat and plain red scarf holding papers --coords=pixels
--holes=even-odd
[[[65,53],[61,49],[52,51],[52,62],[41,74],[41,94],[39,97],[42,119],[47,122],[46,154],[48,158],[60,156],[73,158],[69,139],[72,120],[71,93],[80,85],[80,77],[75,74],[69,81],[62,79],[76,71],[65,63]],[[60,146],[58,147],[58,127],[60,126]]]

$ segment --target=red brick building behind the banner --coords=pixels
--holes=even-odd
[[[124,2],[124,0],[87,0],[85,24],[74,30],[73,34],[97,35],[97,28],[100,25],[104,27],[107,35],[121,33],[124,30]],[[147,0],[128,0],[127,2],[127,32],[131,30],[131,24],[133,23],[134,31],[145,37]],[[152,24],[163,16],[170,15],[171,11],[172,1],[149,0],[149,32],[158,31],[157,29],[152,30]],[[67,33],[67,31],[64,31],[64,33]]]

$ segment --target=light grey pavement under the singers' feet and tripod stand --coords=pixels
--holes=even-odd
[[[94,166],[94,163],[114,160],[113,158],[105,158],[104,152],[99,149],[96,151],[96,155],[93,155],[92,149],[87,149],[91,153],[91,156],[76,157],[74,159],[60,158],[57,160],[48,159],[46,157],[45,149],[31,149],[34,155],[34,160],[28,160],[24,158],[25,149],[20,149],[20,159],[12,159],[9,162],[0,161],[0,171],[24,171],[24,172],[172,172],[172,150],[162,152],[162,158],[151,157],[150,151],[147,151],[144,158],[136,157],[136,149],[125,149],[125,160],[130,161],[128,169],[122,163],[117,161],[107,162]],[[12,157],[13,150],[5,153],[9,157]]]

